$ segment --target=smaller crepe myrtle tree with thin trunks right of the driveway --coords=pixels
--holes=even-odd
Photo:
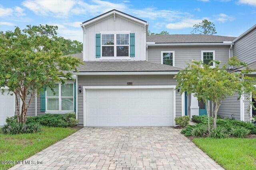
[[[210,66],[212,62],[215,62],[215,67]],[[246,63],[240,62],[236,57],[231,57],[227,64],[236,67],[243,66],[245,69],[241,72],[230,73],[226,64],[220,68],[220,61],[213,60],[205,64],[202,61],[192,60],[175,76],[180,93],[186,91],[197,97],[198,101],[206,103],[209,129],[216,128],[218,109],[228,96],[238,93],[238,99],[240,99],[245,94],[256,95],[256,87],[254,87],[256,77],[246,75],[256,70],[250,69]],[[250,95],[246,96],[250,101]],[[211,102],[211,108],[208,101]],[[213,118],[212,125],[210,125],[210,116]]]

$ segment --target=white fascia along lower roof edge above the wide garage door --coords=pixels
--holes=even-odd
[[[139,71],[139,72],[77,72],[74,75],[176,75],[178,71]]]

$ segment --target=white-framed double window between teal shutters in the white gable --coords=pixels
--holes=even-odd
[[[102,34],[102,57],[129,57],[129,34]]]

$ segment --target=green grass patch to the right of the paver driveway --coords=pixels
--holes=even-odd
[[[256,170],[256,139],[195,138],[193,142],[226,170]]]

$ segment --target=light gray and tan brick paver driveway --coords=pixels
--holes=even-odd
[[[11,169],[222,169],[170,127],[82,128]]]

